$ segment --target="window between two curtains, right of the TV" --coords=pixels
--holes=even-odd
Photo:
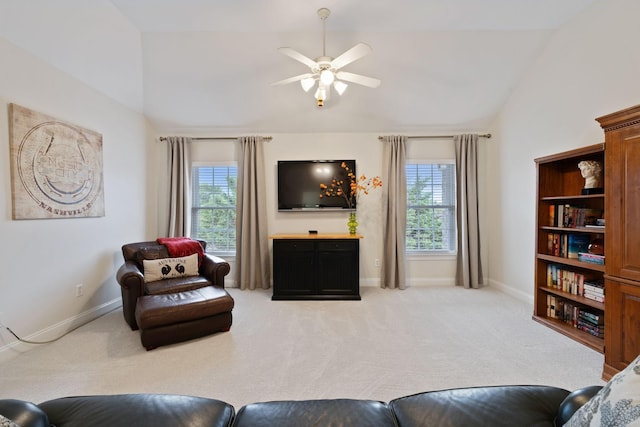
[[[407,164],[406,176],[407,252],[454,252],[455,165]]]

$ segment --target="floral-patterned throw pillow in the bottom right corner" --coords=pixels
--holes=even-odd
[[[565,426],[640,426],[640,356],[611,378]]]

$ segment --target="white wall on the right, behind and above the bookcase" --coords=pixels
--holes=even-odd
[[[537,157],[604,141],[594,120],[640,103],[640,2],[600,0],[562,27],[487,146],[491,282],[533,298]]]

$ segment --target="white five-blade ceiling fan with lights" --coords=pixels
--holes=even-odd
[[[368,44],[358,43],[337,58],[327,56],[325,51],[327,40],[325,27],[326,20],[330,14],[331,11],[327,8],[318,9],[318,16],[322,20],[322,56],[311,59],[290,47],[281,47],[278,49],[282,54],[308,66],[311,72],[271,84],[272,86],[278,86],[299,81],[302,89],[308,92],[315,86],[317,81],[318,88],[315,92],[315,98],[318,107],[324,106],[324,101],[329,97],[331,92],[331,86],[338,92],[338,95],[342,95],[347,89],[348,85],[345,82],[356,83],[370,88],[380,86],[380,80],[378,79],[340,70],[342,67],[371,53],[371,47]]]

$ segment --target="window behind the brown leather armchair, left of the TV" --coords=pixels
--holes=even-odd
[[[194,166],[191,237],[207,242],[207,252],[236,250],[236,166]]]

